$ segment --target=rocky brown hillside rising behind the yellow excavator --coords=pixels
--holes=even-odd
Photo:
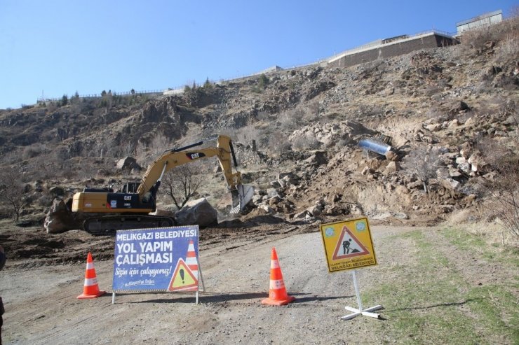
[[[218,133],[238,143],[245,183],[257,187],[250,215],[410,224],[492,216],[481,204],[500,181],[509,182],[504,192],[518,181],[518,22],[349,68],[0,111],[3,216],[18,199],[21,219],[42,222],[55,197],[142,173],[117,160],[131,155],[146,167],[165,148]],[[391,151],[363,152],[358,141],[373,136]],[[198,195],[224,209],[222,176],[208,170]]]

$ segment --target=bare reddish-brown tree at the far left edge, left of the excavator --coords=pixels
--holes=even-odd
[[[20,172],[13,167],[0,169],[0,201],[8,205],[14,220],[20,219],[25,206],[24,186]]]

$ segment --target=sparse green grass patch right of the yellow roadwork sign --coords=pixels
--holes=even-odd
[[[384,335],[386,343],[398,344],[519,344],[518,303],[511,293],[517,284],[474,288],[450,261],[457,258],[436,250],[423,231],[430,230],[392,237],[395,246],[412,241],[415,251],[402,253],[406,260],[400,260],[397,270],[379,269],[382,283],[363,291],[366,306],[384,306],[386,321],[374,323],[374,332]],[[438,235],[466,251],[487,250],[477,237],[464,239],[451,230]]]

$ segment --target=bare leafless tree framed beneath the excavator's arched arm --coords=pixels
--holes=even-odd
[[[202,183],[202,179],[195,174],[198,171],[197,166],[198,164],[175,167],[163,178],[166,195],[173,199],[179,210],[196,194]]]

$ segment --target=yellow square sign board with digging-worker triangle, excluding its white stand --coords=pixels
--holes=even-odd
[[[322,224],[328,271],[377,265],[368,218]]]

